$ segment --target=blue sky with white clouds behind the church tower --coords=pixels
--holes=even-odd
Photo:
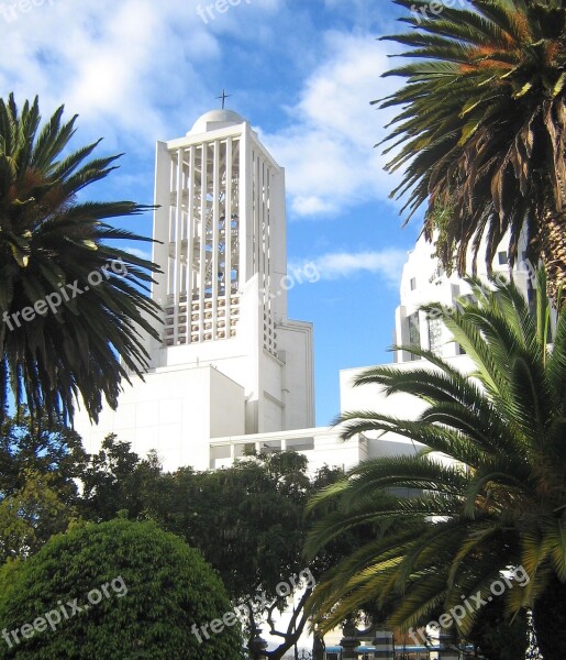
[[[325,425],[340,409],[339,370],[391,359],[401,266],[419,233],[419,219],[401,228],[400,204],[388,199],[398,178],[374,148],[392,114],[369,105],[400,84],[380,77],[393,46],[377,41],[398,30],[398,9],[390,0],[232,2],[224,12],[211,0],[4,3],[2,97],[37,94],[44,117],[65,103],[68,117],[79,114],[75,145],[103,136],[99,154],[125,154],[96,195],[151,204],[155,142],[184,135],[219,107],[222,88],[233,95],[226,107],[286,168],[289,262],[312,261],[321,273],[290,290],[289,316],[314,323],[317,422]],[[147,216],[126,227],[149,234],[151,224]]]

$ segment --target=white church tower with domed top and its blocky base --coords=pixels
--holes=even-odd
[[[287,318],[284,169],[242,117],[212,110],[157,144],[155,204],[162,341],[115,413],[78,417],[87,450],[112,432],[166,469],[203,470],[214,438],[312,427],[312,326]]]

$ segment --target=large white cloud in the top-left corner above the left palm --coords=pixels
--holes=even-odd
[[[146,153],[187,108],[202,108],[199,67],[220,54],[191,1],[49,0],[2,34],[0,87],[19,100],[38,94],[44,117],[65,103],[81,134],[104,135],[110,150]]]

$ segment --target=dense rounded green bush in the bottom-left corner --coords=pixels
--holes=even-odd
[[[237,624],[217,635],[209,626],[209,640],[199,632],[232,609],[221,581],[198,551],[153,522],[75,528],[2,578],[0,658],[241,658]],[[22,630],[42,617],[56,625]]]

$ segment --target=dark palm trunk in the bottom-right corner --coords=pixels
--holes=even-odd
[[[544,660],[564,660],[566,649],[566,583],[553,574],[533,607],[533,623]]]

